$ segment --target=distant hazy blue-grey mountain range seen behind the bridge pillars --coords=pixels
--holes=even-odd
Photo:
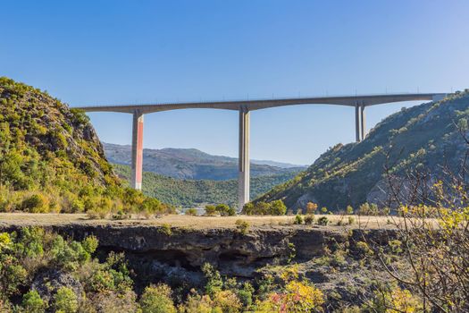
[[[113,164],[130,165],[131,147],[103,143],[105,155]],[[195,148],[163,148],[143,150],[143,169],[178,179],[225,181],[238,178],[238,159],[212,156]],[[306,169],[274,161],[251,161],[251,175],[271,176],[298,173]]]

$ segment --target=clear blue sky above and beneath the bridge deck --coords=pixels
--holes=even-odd
[[[469,87],[469,2],[2,1],[0,75],[69,103],[297,97]],[[367,111],[368,128],[402,106]],[[90,114],[101,140],[130,143],[128,114]],[[353,108],[251,116],[251,156],[311,164],[355,139]],[[238,114],[146,116],[146,148],[238,154]]]

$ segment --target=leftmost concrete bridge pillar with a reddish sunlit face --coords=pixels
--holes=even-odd
[[[143,114],[136,111],[132,124],[132,181],[131,187],[142,190],[143,173]]]

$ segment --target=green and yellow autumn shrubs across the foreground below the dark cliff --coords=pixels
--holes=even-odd
[[[242,220],[237,224],[239,233],[248,235],[248,225]],[[393,241],[392,249],[384,247],[392,258],[389,264],[402,266],[399,246]],[[388,301],[397,308],[422,308],[422,299],[414,292],[370,275],[372,250],[365,242],[357,247],[362,252],[337,244],[306,263],[292,258],[290,265],[264,266],[248,280],[221,275],[215,265],[205,263],[199,268],[202,284],[188,285],[138,277],[123,253],[97,253],[99,242],[93,236],[72,241],[43,228],[26,227],[0,233],[0,311],[280,313],[354,307],[385,312],[383,303]],[[306,266],[328,273],[331,281],[312,283]],[[342,272],[349,283],[340,283]],[[137,286],[138,279],[146,284]],[[377,285],[382,292],[376,292]]]

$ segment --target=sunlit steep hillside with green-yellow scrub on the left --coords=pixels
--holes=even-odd
[[[121,186],[87,115],[0,78],[0,212],[119,210],[173,208]]]

